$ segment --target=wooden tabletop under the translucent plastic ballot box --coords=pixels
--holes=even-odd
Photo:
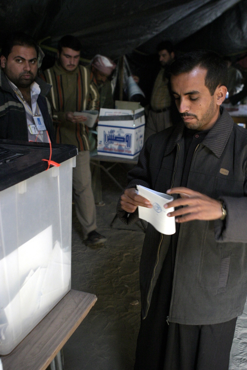
[[[69,293],[8,355],[3,370],[45,370],[94,306],[94,294]]]

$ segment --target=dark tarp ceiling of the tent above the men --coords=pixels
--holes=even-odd
[[[184,46],[187,37],[191,47],[206,44],[223,54],[247,48],[247,0],[2,0],[0,24],[1,37],[23,30],[38,40],[50,36],[44,43],[53,47],[73,34],[88,58],[138,47],[153,53],[161,39]]]

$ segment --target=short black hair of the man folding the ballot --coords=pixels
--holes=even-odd
[[[217,53],[207,50],[191,51],[177,58],[170,67],[171,75],[177,76],[181,73],[189,73],[195,67],[207,70],[205,86],[211,95],[218,85],[227,84],[227,65],[223,58]]]

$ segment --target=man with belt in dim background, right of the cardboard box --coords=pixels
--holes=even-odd
[[[146,141],[150,135],[156,134],[172,125],[170,114],[170,78],[168,72],[170,64],[173,62],[175,57],[173,45],[170,41],[162,41],[157,46],[157,52],[161,64],[161,70],[154,82],[150,101],[151,109],[147,117],[144,141]]]

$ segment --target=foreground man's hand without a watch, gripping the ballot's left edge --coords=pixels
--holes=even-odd
[[[137,206],[153,208],[151,203],[143,196],[137,195],[135,188],[126,189],[121,195],[121,208],[128,213],[136,211]]]

